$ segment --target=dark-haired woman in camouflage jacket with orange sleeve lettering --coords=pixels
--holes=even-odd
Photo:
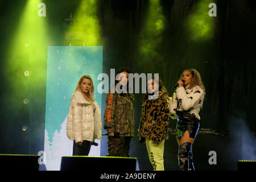
[[[134,96],[130,93],[120,93],[129,88],[129,71],[122,68],[116,73],[119,79],[110,89],[106,98],[104,114],[104,129],[108,131],[107,156],[129,157],[131,139],[134,137]],[[121,89],[117,90],[118,84]]]

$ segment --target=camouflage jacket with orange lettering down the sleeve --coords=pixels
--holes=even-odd
[[[134,137],[133,99],[128,94],[109,93],[106,98],[104,129],[121,137]]]

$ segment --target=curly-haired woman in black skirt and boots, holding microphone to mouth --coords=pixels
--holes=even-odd
[[[199,111],[203,106],[205,88],[196,69],[186,69],[177,81],[170,102],[171,118],[177,118],[176,139],[179,145],[178,159],[181,171],[194,171],[192,144],[199,131]]]

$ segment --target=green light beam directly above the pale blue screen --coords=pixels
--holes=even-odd
[[[77,9],[74,22],[66,32],[71,46],[102,46],[100,20],[95,0],[82,0]]]

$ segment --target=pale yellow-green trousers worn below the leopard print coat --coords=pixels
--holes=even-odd
[[[164,171],[164,140],[158,144],[153,143],[152,140],[146,138],[146,146],[148,152],[148,158],[154,168],[154,171]]]

